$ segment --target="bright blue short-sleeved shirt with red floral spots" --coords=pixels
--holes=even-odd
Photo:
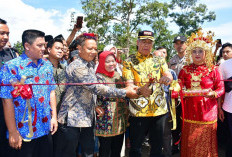
[[[1,69],[2,83],[10,84],[20,81],[22,76],[27,76],[25,84],[54,84],[52,75],[52,65],[49,61],[38,60],[36,65],[30,58],[23,53],[18,58],[7,62]],[[55,90],[54,85],[32,85],[33,96],[29,100],[31,106],[31,115],[25,99],[21,96],[13,98],[12,86],[2,86],[0,97],[13,99],[15,110],[16,127],[23,139],[30,140],[44,135],[50,131],[51,107],[50,93]],[[29,137],[31,117],[33,136]]]

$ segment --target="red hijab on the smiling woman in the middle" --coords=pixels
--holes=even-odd
[[[115,60],[116,60],[116,57],[114,55],[113,52],[110,52],[110,51],[103,51],[100,55],[99,55],[99,64],[98,64],[98,67],[97,67],[97,70],[96,70],[96,73],[100,73],[100,74],[104,74],[110,78],[112,78],[114,76],[114,71],[113,72],[108,72],[106,71],[105,69],[105,61],[106,61],[106,57],[109,56],[109,55],[113,55]]]

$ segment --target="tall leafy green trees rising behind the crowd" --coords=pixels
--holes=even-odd
[[[82,0],[89,31],[99,34],[99,48],[114,44],[136,51],[139,30],[152,30],[154,48],[165,46],[169,52],[175,34],[169,30],[175,23],[180,34],[196,31],[204,22],[215,20],[214,12],[197,0]]]

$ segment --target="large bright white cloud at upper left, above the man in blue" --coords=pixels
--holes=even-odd
[[[26,29],[38,29],[53,36],[63,34],[67,38],[70,34],[68,29],[71,27],[71,12],[83,16],[73,8],[61,14],[59,10],[46,11],[42,8],[34,8],[23,3],[22,0],[3,0],[0,10],[1,18],[8,22],[12,44],[21,41],[22,33]]]

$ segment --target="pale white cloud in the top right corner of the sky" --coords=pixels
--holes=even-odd
[[[231,0],[200,0],[200,3],[206,4],[209,10],[219,10],[232,7]]]

